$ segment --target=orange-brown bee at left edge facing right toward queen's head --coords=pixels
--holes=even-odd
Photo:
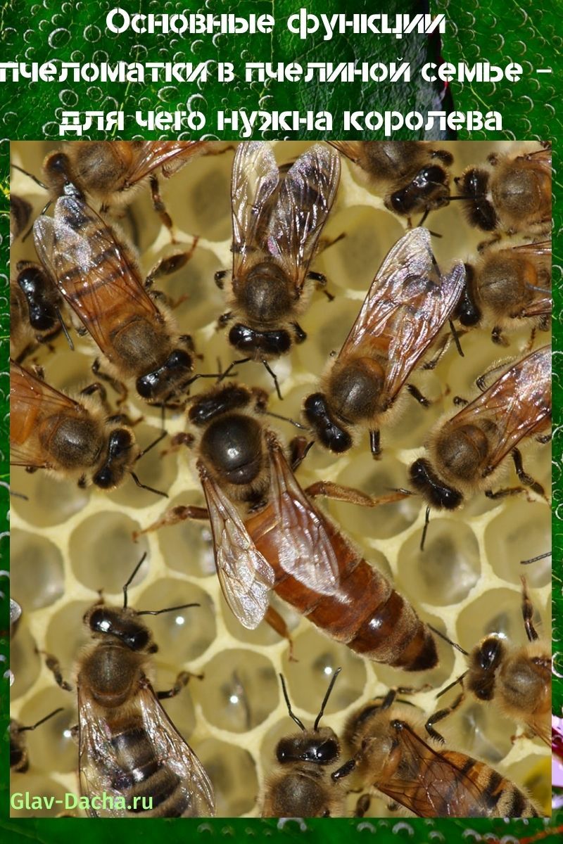
[[[144,452],[133,431],[107,419],[88,392],[79,403],[11,360],[10,464],[50,469],[101,490],[114,490],[128,473],[143,490],[165,495],[140,483],[132,467]]]

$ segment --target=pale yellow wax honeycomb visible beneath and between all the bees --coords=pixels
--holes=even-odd
[[[307,143],[273,144],[279,162],[300,154]],[[492,151],[536,149],[535,144],[444,143],[455,157],[453,174],[485,161]],[[44,155],[52,145],[13,143],[14,163],[39,175]],[[230,253],[230,166],[232,151],[199,158],[185,166],[170,181],[162,180],[166,206],[176,225],[176,243],[160,224],[150,203],[149,191],[138,192],[130,211],[120,220],[138,250],[144,272],[161,258],[187,250],[195,235],[197,248],[191,260],[176,273],[161,279],[158,286],[172,300],[181,330],[191,333],[198,353],[204,355],[199,371],[216,371],[218,361],[227,365],[233,354],[225,332],[215,323],[225,310],[222,292],[213,282],[214,273],[229,268]],[[26,197],[41,213],[45,192],[27,176],[13,171],[12,192]],[[454,258],[474,257],[482,233],[471,229],[460,203],[452,203],[430,214],[430,229],[441,234],[432,243],[441,268]],[[303,398],[317,384],[328,355],[339,349],[359,311],[371,279],[392,244],[403,234],[404,219],[391,214],[362,181],[354,165],[343,160],[342,178],[333,212],[325,228],[326,238],[344,233],[344,238],[318,255],[314,268],[328,277],[331,302],[317,294],[301,320],[308,334],[306,343],[275,362],[283,400],[276,398],[273,384],[263,367],[246,364],[237,368],[238,378],[263,387],[270,395],[274,413],[297,419]],[[32,238],[14,242],[12,266],[20,259],[35,259]],[[93,376],[89,365],[94,348],[87,338],[73,334],[75,351],[64,337],[51,348],[43,346],[25,361],[39,362],[46,381],[70,392]],[[546,335],[536,338],[544,344]],[[382,460],[374,462],[367,436],[360,447],[335,457],[314,447],[297,474],[306,486],[318,479],[349,484],[373,495],[390,487],[407,484],[406,468],[422,453],[426,432],[453,408],[452,397],[475,394],[475,379],[499,360],[522,355],[530,341],[529,327],[510,333],[507,349],[491,343],[489,329],[474,329],[463,339],[463,358],[448,349],[434,371],[419,371],[411,379],[433,403],[422,408],[413,399],[403,402],[396,424],[382,430]],[[199,384],[203,383],[203,387]],[[205,381],[194,385],[195,392]],[[115,395],[109,391],[109,398]],[[129,394],[130,414],[141,419],[135,433],[141,447],[160,431],[160,410],[137,403]],[[288,440],[295,435],[291,425],[277,419],[270,425]],[[166,430],[173,435],[184,429],[181,413],[167,412]],[[214,783],[219,816],[257,816],[261,788],[273,770],[273,750],[281,736],[295,731],[281,693],[278,674],[286,679],[295,713],[312,723],[333,669],[343,670],[322,723],[341,733],[347,718],[365,701],[384,694],[392,685],[420,686],[435,690],[413,695],[411,700],[425,712],[435,711],[436,689],[462,674],[463,655],[446,641],[437,642],[438,668],[425,674],[406,674],[387,666],[369,663],[340,646],[301,619],[288,605],[273,597],[273,605],[291,630],[296,661],[290,660],[288,641],[263,624],[245,630],[230,613],[214,572],[211,534],[205,522],[183,522],[157,533],[143,534],[134,543],[133,531],[147,527],[177,504],[202,505],[198,479],[191,473],[184,449],[171,452],[166,441],[138,463],[144,484],[167,491],[168,500],[138,489],[132,480],[119,490],[104,494],[89,488],[79,490],[72,482],[57,480],[47,473],[25,473],[14,468],[12,489],[27,499],[13,497],[11,509],[11,593],[23,608],[12,641],[14,685],[11,690],[12,717],[31,724],[47,712],[63,711],[40,729],[27,733],[30,770],[13,774],[14,792],[55,795],[78,790],[77,746],[70,730],[77,722],[75,695],[59,689],[38,651],[55,654],[65,679],[73,680],[76,659],[88,640],[82,625],[84,610],[98,598],[122,604],[122,586],[134,565],[146,551],[129,603],[138,609],[160,609],[184,602],[198,602],[198,608],[148,617],[160,650],[154,656],[155,688],[169,688],[176,674],[187,668],[203,679],[192,679],[180,695],[164,706],[176,727],[196,750]],[[533,443],[524,451],[529,473],[549,487],[549,446]],[[508,479],[512,479],[508,473]],[[532,496],[533,497],[533,496]],[[544,500],[516,495],[488,500],[477,495],[462,510],[433,514],[423,553],[420,538],[425,508],[410,497],[376,510],[342,502],[323,501],[331,517],[349,534],[406,598],[420,616],[442,630],[466,650],[491,631],[525,642],[521,614],[520,560],[539,555],[550,547],[550,511]],[[526,568],[528,586],[539,616],[543,635],[549,637],[550,564],[539,560]],[[452,701],[456,690],[440,699]],[[477,755],[517,784],[528,787],[549,811],[549,750],[538,739],[523,736],[512,741],[515,725],[502,717],[495,706],[464,702],[455,715],[443,723],[442,732],[452,747]],[[353,812],[357,795],[349,795]],[[15,814],[15,813],[14,813]],[[24,816],[24,812],[18,812]],[[28,814],[37,814],[32,810]],[[45,815],[57,809],[45,810]],[[395,816],[382,799],[371,802],[374,816]]]

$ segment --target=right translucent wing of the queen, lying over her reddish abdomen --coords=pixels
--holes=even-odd
[[[324,521],[301,490],[279,444],[271,441],[270,494],[279,563],[295,580],[323,595],[340,582],[338,559]]]

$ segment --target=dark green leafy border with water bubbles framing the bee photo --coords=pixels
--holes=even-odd
[[[45,34],[41,31],[31,32],[25,35],[25,30],[33,29],[32,8],[40,6],[39,3],[32,3],[31,0],[14,0],[13,3],[0,4],[0,46],[3,46],[3,58],[20,57],[24,51],[30,51],[34,58],[41,57],[46,54]],[[51,8],[56,10],[56,3],[54,0],[44,0],[43,8]],[[84,20],[89,23],[94,23],[94,19],[100,19],[104,8],[110,8],[110,5],[101,2],[95,9],[88,13],[85,10],[85,3],[66,3],[66,11],[59,14],[57,24],[65,29],[68,27],[69,32],[73,32],[72,46],[68,47],[68,55],[72,49],[79,49],[84,46],[86,54],[88,55],[89,45],[83,42],[80,43],[80,36],[78,33],[78,41],[76,41],[76,31],[80,27],[84,29]],[[121,5],[124,8],[132,10],[149,10],[149,2],[146,0],[142,3],[130,3],[127,0],[121,0],[120,3],[111,3],[113,5]],[[161,4],[164,8],[165,4]],[[195,4],[194,4],[195,5]],[[198,4],[199,5],[199,4]],[[209,0],[206,6],[211,10],[219,8],[218,0]],[[183,8],[182,3],[168,3],[167,9]],[[253,8],[259,8],[262,12],[273,12],[277,18],[288,14],[288,10],[300,8],[300,6],[307,6],[311,12],[326,12],[329,11],[349,11],[349,3],[337,3],[334,0],[330,2],[321,2],[321,0],[310,0],[309,3],[298,2],[298,0],[277,0],[276,3],[271,2],[257,2],[257,3],[238,3],[233,4],[232,9],[236,11],[241,9],[245,13],[252,11]],[[421,3],[420,6],[424,6]],[[419,8],[420,8],[419,6]],[[357,2],[354,4],[354,11],[391,11],[402,10],[410,11],[414,7],[414,3],[393,3],[389,0],[387,3],[364,3]],[[502,10],[499,12],[495,8],[495,0],[486,0],[486,2],[477,2],[477,0],[464,0],[461,2],[442,2],[435,3],[435,10],[445,11],[449,16],[450,22],[453,24],[449,29],[446,38],[444,39],[443,54],[448,61],[457,62],[462,60],[474,61],[476,56],[490,57],[493,62],[501,62],[501,57],[505,61],[519,60],[520,51],[522,47],[517,46],[517,42],[522,38],[521,29],[527,21],[531,21],[531,35],[527,37],[524,46],[531,50],[533,46],[537,46],[541,53],[544,64],[542,66],[551,66],[554,72],[563,69],[563,62],[560,56],[560,36],[557,35],[560,23],[561,12],[563,11],[563,4],[551,3],[549,10],[538,9],[537,4],[522,2],[516,3],[514,0],[505,0],[502,4]],[[152,4],[151,11],[155,11]],[[225,10],[222,8],[221,10]],[[57,9],[61,13],[60,9]],[[88,18],[90,15],[90,18]],[[22,23],[24,22],[24,23]],[[516,22],[516,23],[515,23]],[[11,29],[13,28],[13,29]],[[528,29],[526,30],[528,32]],[[513,37],[505,38],[504,44],[501,44],[499,33],[512,34]],[[522,30],[523,32],[523,30]],[[155,39],[155,41],[158,41]],[[145,44],[151,47],[149,40],[144,41]],[[398,43],[392,45],[394,58],[397,57]],[[405,42],[406,43],[406,42]],[[524,43],[524,42],[521,42]],[[127,41],[120,43],[122,55],[133,55],[133,52],[127,53]],[[161,46],[161,44],[159,45]],[[166,44],[168,47],[169,45]],[[275,50],[272,43],[265,44],[266,57],[274,57]],[[403,47],[404,45],[401,44]],[[72,47],[72,48],[71,48]],[[97,45],[99,48],[100,45]],[[295,44],[290,41],[287,44],[282,44],[288,52],[287,55],[295,55],[292,52]],[[427,45],[429,51],[436,51],[436,41],[432,45]],[[92,47],[94,49],[94,47]],[[177,47],[176,47],[177,49]],[[235,46],[236,51],[240,47]],[[226,46],[222,47],[226,50]],[[375,54],[375,50],[374,50]],[[283,55],[283,53],[282,53]],[[430,52],[430,55],[432,53]],[[529,54],[528,54],[529,55]],[[338,42],[332,42],[330,45],[329,59],[333,57],[353,57],[354,51],[350,46],[349,39],[342,39]],[[206,55],[206,57],[208,57]],[[278,55],[278,57],[281,57]],[[322,57],[317,56],[316,57]],[[362,56],[365,57],[365,56]],[[549,64],[548,64],[549,63]],[[555,73],[554,73],[555,77]],[[518,89],[522,94],[520,98],[509,97],[506,89],[499,86],[497,89],[485,89],[479,87],[478,90],[472,86],[452,85],[452,95],[456,103],[456,108],[460,111],[467,111],[474,108],[483,109],[486,102],[487,108],[498,108],[503,112],[506,119],[506,133],[501,137],[518,137],[518,138],[551,138],[555,142],[555,162],[557,162],[559,142],[561,140],[561,120],[560,114],[557,113],[557,98],[552,91],[549,93],[549,85],[538,91],[535,89],[530,96],[526,93],[525,84]],[[154,101],[154,91],[148,89],[147,96],[149,100]],[[251,86],[242,85],[236,92],[237,106],[241,104],[250,104],[256,102],[263,91],[252,88]],[[272,93],[270,91],[270,93]],[[306,91],[301,90],[298,95],[295,95],[295,88],[284,89],[279,87],[273,92],[275,96],[276,105],[284,107],[284,103],[291,101],[292,107],[299,107],[295,102],[299,102],[301,107],[315,107],[318,108],[319,102],[322,100],[322,95],[325,92],[315,88],[315,86],[308,86]],[[433,103],[430,108],[436,108],[436,97],[439,94],[434,91],[426,92],[429,101]],[[46,96],[44,89],[37,86],[31,86],[29,89],[24,89],[20,92],[14,92],[14,100],[4,100],[3,106],[0,106],[0,134],[4,137],[12,138],[40,138],[44,137],[41,127],[48,122],[49,108],[51,102]],[[205,91],[208,103],[215,100],[220,101],[219,98],[225,95],[225,89],[208,88]],[[347,89],[346,95],[349,102],[354,102],[355,106],[359,103],[361,106],[375,107],[374,104],[381,100],[382,89],[376,91],[370,86],[363,86],[358,92],[357,89]],[[137,97],[137,92],[127,91],[126,95],[119,92],[119,98],[123,100]],[[297,96],[297,100],[294,100]],[[530,100],[525,97],[530,96]],[[530,108],[530,101],[534,106]],[[388,104],[387,104],[388,105]],[[391,104],[392,105],[392,104]],[[360,106],[360,107],[361,107]],[[51,135],[52,137],[52,135]],[[95,136],[100,138],[101,136]],[[131,137],[130,134],[125,133],[124,137]],[[311,137],[311,136],[310,136]],[[320,136],[316,136],[320,137]],[[461,137],[461,133],[460,133]],[[465,134],[463,137],[468,137]],[[486,137],[482,133],[476,133],[471,136],[473,139]],[[499,136],[496,136],[499,137]],[[2,181],[3,188],[6,187],[7,181],[5,175],[8,173],[8,142],[0,142],[0,174],[4,174]],[[557,164],[555,164],[555,170]],[[560,178],[555,174],[555,193],[561,192]],[[561,214],[560,206],[558,208],[554,200],[554,217],[555,217],[555,244],[554,244],[554,274],[556,279],[555,284],[555,313],[558,315],[555,319],[555,349],[560,354],[563,348],[563,338],[559,330],[561,315],[561,245],[560,245],[560,230],[561,230]],[[2,252],[0,260],[3,263],[3,270],[0,272],[0,480],[8,479],[8,201],[5,192],[0,195],[0,245]],[[556,359],[557,360],[557,359]],[[556,419],[560,419],[561,395],[563,386],[560,383],[560,377],[557,373],[555,375],[555,408]],[[555,424],[554,437],[554,480],[558,482],[560,477],[561,459],[562,459],[562,438],[560,436],[560,426],[558,422]],[[8,530],[8,521],[6,511],[8,507],[8,500],[6,490],[0,488],[0,495],[3,496],[0,502],[0,552],[2,552],[2,563],[0,568],[3,568],[8,560],[8,541],[5,533]],[[561,592],[561,567],[560,567],[560,552],[563,548],[563,527],[558,517],[557,506],[560,502],[561,489],[558,487],[555,490],[555,547],[557,553],[555,555],[555,598],[554,598],[554,639],[557,643],[563,638],[563,594]],[[3,582],[0,582],[0,587],[3,587]],[[6,631],[8,630],[8,602],[0,601],[0,653],[6,655],[8,651],[8,640]],[[0,666],[0,668],[2,668]],[[559,681],[555,683],[554,689],[554,706],[556,711],[561,710],[563,705],[563,684]],[[39,841],[70,841],[75,835],[73,829],[74,823],[80,824],[80,836],[84,841],[94,841],[99,833],[95,829],[94,820],[65,820],[61,826],[60,820],[8,820],[8,683],[6,680],[0,679],[0,735],[3,740],[0,742],[0,751],[2,757],[0,758],[0,830],[9,830],[13,838],[36,838]],[[549,822],[549,826],[560,824],[563,822],[563,814],[559,813]],[[351,830],[356,830],[360,825],[358,820],[308,820],[306,822],[306,830],[301,830],[300,825],[295,822],[289,822],[285,825],[280,825],[275,820],[209,820],[209,821],[188,821],[188,820],[144,820],[141,822],[130,821],[125,827],[121,824],[117,826],[117,821],[106,820],[104,824],[103,835],[107,841],[116,841],[119,836],[120,841],[123,839],[124,831],[126,836],[139,837],[143,836],[149,840],[161,836],[163,832],[162,824],[166,824],[166,834],[171,841],[183,841],[186,835],[196,837],[219,837],[219,836],[235,836],[240,841],[251,841],[257,836],[271,836],[274,840],[292,839],[297,837],[300,841],[317,841],[322,837],[323,841],[338,841],[341,836],[349,835]],[[135,826],[135,824],[140,824]],[[544,828],[543,822],[531,822],[526,824],[525,821],[512,821],[505,823],[502,820],[370,820],[366,821],[361,829],[365,832],[374,832],[377,834],[377,841],[386,844],[387,841],[397,841],[401,837],[406,840],[413,841],[432,841],[446,840],[448,842],[467,841],[469,830],[475,830],[480,835],[492,833],[499,839],[502,836],[510,835],[518,839],[522,837],[533,836],[534,832]],[[475,836],[477,838],[477,836]],[[471,840],[471,838],[469,838]]]

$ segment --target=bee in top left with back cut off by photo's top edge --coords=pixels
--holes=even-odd
[[[225,148],[225,143],[212,141],[72,141],[47,155],[43,174],[55,197],[72,182],[92,203],[99,203],[100,213],[127,205],[149,181],[154,208],[171,229],[158,176],[168,179],[198,155]]]

